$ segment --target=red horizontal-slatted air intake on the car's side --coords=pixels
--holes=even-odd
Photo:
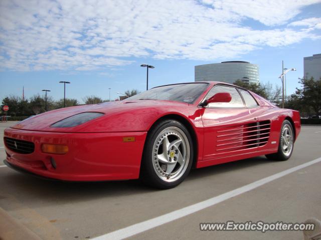
[[[228,152],[263,146],[270,137],[270,120],[219,129],[216,151]]]

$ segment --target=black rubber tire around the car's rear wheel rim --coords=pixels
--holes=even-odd
[[[283,135],[286,128],[290,131],[290,134],[291,134],[291,147],[290,147],[290,149],[288,149],[288,152],[286,150],[282,149],[284,146],[282,135]],[[289,159],[292,155],[292,152],[293,152],[294,137],[295,136],[294,136],[294,131],[293,131],[293,127],[292,127],[291,122],[289,120],[284,120],[282,123],[282,126],[281,126],[279,146],[278,146],[277,152],[271,153],[271,154],[266,154],[265,156],[268,159],[278,160],[278,161],[285,161],[285,160]]]

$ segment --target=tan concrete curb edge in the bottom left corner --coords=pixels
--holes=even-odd
[[[30,239],[41,240],[41,238],[17,219],[9,215],[0,207],[0,239]]]

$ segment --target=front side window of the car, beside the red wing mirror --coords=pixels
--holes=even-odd
[[[232,86],[214,86],[209,91],[205,99],[209,99],[211,96],[214,96],[218,92],[229,92],[232,96],[232,100],[230,102],[211,102],[208,104],[209,107],[244,107],[244,103],[240,93],[235,87]]]

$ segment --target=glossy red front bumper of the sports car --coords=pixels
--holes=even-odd
[[[68,181],[101,181],[139,177],[147,132],[61,133],[7,128],[5,137],[32,141],[30,154],[17,153],[5,144],[7,164],[45,178]],[[135,137],[124,142],[123,137]],[[41,151],[43,143],[66,144],[66,154]],[[56,168],[52,165],[52,159]]]

